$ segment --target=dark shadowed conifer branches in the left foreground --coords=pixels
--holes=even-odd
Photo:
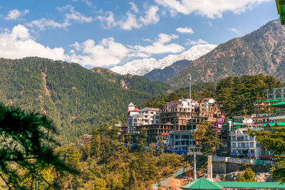
[[[58,146],[56,127],[46,116],[0,105],[0,126],[0,177],[9,189],[26,189],[35,184],[57,188],[51,167],[56,171],[78,171],[54,153]]]

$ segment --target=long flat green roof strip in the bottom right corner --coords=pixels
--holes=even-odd
[[[224,188],[285,189],[285,184],[280,182],[216,181],[214,183]]]

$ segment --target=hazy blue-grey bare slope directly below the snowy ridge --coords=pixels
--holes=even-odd
[[[148,78],[150,80],[162,82],[167,80],[168,78],[172,78],[172,76],[179,73],[183,68],[187,67],[190,63],[192,63],[192,60],[178,60],[172,65],[167,66],[166,68],[163,69],[155,68],[154,70],[150,71],[150,73],[143,75],[143,77]]]

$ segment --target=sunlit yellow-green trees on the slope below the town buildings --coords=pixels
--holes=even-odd
[[[122,144],[125,139],[118,139],[114,122],[94,128],[90,143],[84,145],[90,146],[90,152],[85,151],[86,147],[79,147],[78,155],[76,147],[63,147],[61,155],[68,152],[68,157],[76,157],[66,160],[79,164],[81,173],[57,177],[61,189],[145,189],[182,167],[183,157],[177,154],[160,153],[155,149],[138,151],[125,146]],[[138,138],[140,144],[145,144],[144,131]]]

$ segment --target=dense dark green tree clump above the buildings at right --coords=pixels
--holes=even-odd
[[[267,88],[277,87],[281,87],[281,82],[274,76],[228,77],[217,83],[216,97],[222,110],[229,115],[247,115],[252,112],[253,102],[265,99]]]

